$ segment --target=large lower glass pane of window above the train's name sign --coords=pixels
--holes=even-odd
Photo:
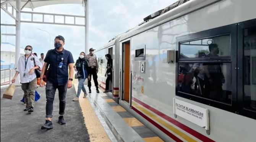
[[[178,92],[231,103],[231,63],[179,63]]]

